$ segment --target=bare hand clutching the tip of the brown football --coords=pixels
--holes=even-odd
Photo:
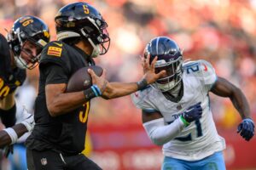
[[[103,94],[108,84],[108,81],[106,80],[106,70],[103,69],[101,77],[98,77],[96,73],[91,69],[88,69],[88,72],[90,73],[92,83],[97,85],[97,87],[100,88],[101,93]]]

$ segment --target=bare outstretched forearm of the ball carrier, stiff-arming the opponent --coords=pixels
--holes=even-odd
[[[104,99],[119,98],[125,95],[132,94],[138,90],[137,83],[122,83],[122,82],[108,82],[102,97]]]

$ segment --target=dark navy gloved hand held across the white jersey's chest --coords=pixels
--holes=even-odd
[[[202,108],[201,108],[201,102],[199,102],[195,105],[190,106],[189,109],[183,112],[182,116],[186,122],[190,123],[201,118],[201,114],[202,114]]]

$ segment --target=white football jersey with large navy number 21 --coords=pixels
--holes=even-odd
[[[133,103],[143,111],[159,111],[165,124],[172,123],[189,106],[201,102],[200,120],[191,122],[177,138],[163,145],[165,156],[196,161],[224,150],[225,142],[213,122],[208,95],[216,80],[215,71],[207,61],[190,61],[183,64],[183,98],[179,102],[166,99],[159,89],[152,87],[131,95]]]

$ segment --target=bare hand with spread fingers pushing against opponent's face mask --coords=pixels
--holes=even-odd
[[[157,61],[157,56],[154,57],[151,65],[149,64],[149,54],[146,59],[142,57],[142,65],[143,65],[143,72],[144,76],[143,78],[148,82],[148,84],[151,84],[158,80],[160,77],[163,77],[166,74],[166,71],[160,71],[159,73],[155,74],[154,72],[154,65]]]

